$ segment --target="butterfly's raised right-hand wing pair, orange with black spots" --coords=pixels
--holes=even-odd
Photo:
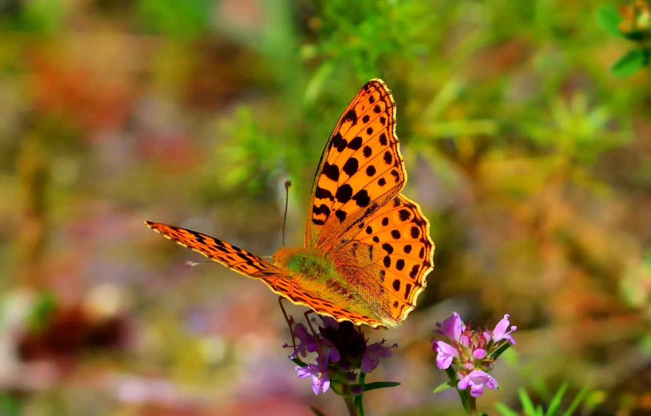
[[[382,80],[371,80],[326,144],[306,230],[306,246],[340,270],[367,266],[349,276],[350,284],[379,298],[376,312],[385,326],[400,325],[415,308],[434,256],[429,222],[419,205],[400,193],[407,171],[395,126],[391,91]]]

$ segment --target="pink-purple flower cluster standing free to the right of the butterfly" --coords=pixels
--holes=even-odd
[[[454,312],[443,323],[436,323],[438,329],[432,339],[432,349],[436,351],[436,364],[441,370],[454,365],[459,378],[457,387],[465,390],[470,387],[470,395],[479,397],[484,392],[484,386],[489,389],[497,388],[497,380],[488,374],[497,358],[497,351],[515,340],[510,335],[516,330],[510,327],[508,315],[497,323],[493,331],[470,329],[464,325],[458,313]],[[507,331],[508,330],[508,331]]]

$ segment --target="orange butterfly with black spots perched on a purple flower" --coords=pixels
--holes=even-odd
[[[321,316],[396,327],[425,288],[434,243],[421,207],[400,192],[407,171],[395,130],[391,91],[382,80],[370,80],[339,117],[321,155],[305,247],[280,248],[273,263],[197,231],[145,223]]]

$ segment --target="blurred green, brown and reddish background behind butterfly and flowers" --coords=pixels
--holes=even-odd
[[[276,295],[184,267],[203,258],[143,221],[271,255],[291,179],[301,246],[321,151],[376,77],[436,267],[403,327],[367,331],[400,346],[368,381],[402,383],[367,413],[462,414],[432,394],[456,310],[518,325],[480,410],[567,381],[583,415],[651,414],[651,82],[613,76],[636,44],[595,18],[626,4],[1,0],[0,414],[343,414],[296,376]]]

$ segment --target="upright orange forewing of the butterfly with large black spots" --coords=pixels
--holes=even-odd
[[[367,82],[342,113],[312,185],[306,246],[328,246],[340,228],[372,213],[404,186],[395,102],[381,80]]]

